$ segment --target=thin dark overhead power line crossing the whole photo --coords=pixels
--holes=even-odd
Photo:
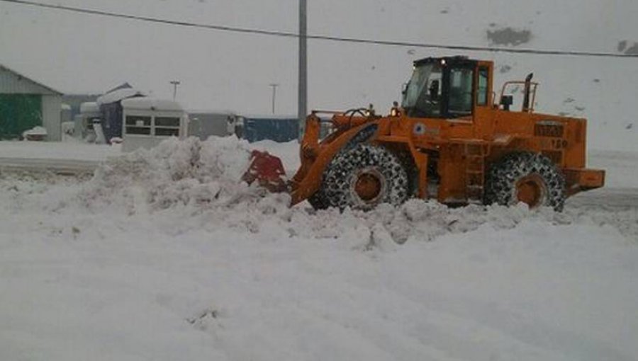
[[[186,21],[174,21],[174,20],[168,20],[168,19],[162,19],[162,18],[152,18],[148,16],[136,16],[136,15],[129,15],[125,13],[113,13],[110,11],[91,10],[87,8],[76,8],[72,6],[43,4],[43,3],[39,3],[36,1],[29,1],[29,0],[0,0],[0,1],[9,2],[13,4],[36,6],[40,8],[52,8],[56,10],[69,11],[74,13],[87,13],[91,15],[110,16],[113,18],[125,18],[129,20],[146,21],[150,23],[179,25],[179,26],[185,26],[189,28],[203,28],[208,30],[227,31],[232,33],[270,35],[270,36],[279,36],[284,38],[299,37],[299,35],[296,33],[290,33],[286,31],[262,30],[262,29],[254,29],[254,28],[239,28],[234,26],[211,25],[211,24],[203,24],[203,23],[189,23]],[[423,47],[423,48],[429,48],[429,49],[443,49],[443,50],[466,50],[466,51],[476,51],[476,52],[506,52],[506,53],[514,53],[514,54],[532,54],[532,55],[568,55],[568,56],[574,56],[574,57],[620,57],[620,58],[638,57],[638,54],[614,54],[610,52],[580,52],[580,51],[572,51],[572,50],[512,49],[512,48],[504,48],[504,47],[476,47],[476,46],[469,46],[469,45],[442,45],[442,44],[425,43],[425,42],[372,40],[372,39],[364,39],[364,38],[342,38],[342,37],[330,36],[330,35],[307,35],[307,38],[312,40],[326,40],[326,41],[334,41],[334,42],[352,42],[352,43],[359,43],[359,44],[388,45],[388,46],[401,46],[401,47]]]

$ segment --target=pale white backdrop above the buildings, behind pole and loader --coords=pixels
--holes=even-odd
[[[244,28],[296,32],[298,26],[296,0],[38,1]],[[488,31],[513,28],[530,35],[518,47],[597,52],[625,51],[620,50],[623,40],[625,49],[638,41],[638,1],[633,0],[308,3],[308,33],[315,35],[488,46]],[[442,54],[457,52],[310,40],[309,106],[342,109],[375,103],[385,109],[398,100],[414,59]],[[493,59],[504,67],[497,80],[535,71],[546,91],[539,99],[552,111],[564,110],[564,100],[573,98],[587,103],[583,106],[591,110],[588,113],[603,116],[608,110],[594,108],[590,99],[620,87],[622,93],[631,93],[627,101],[615,94],[604,103],[623,106],[634,103],[629,99],[638,93],[637,59],[465,54]],[[100,93],[128,81],[154,96],[170,97],[169,81],[177,79],[178,98],[188,108],[242,113],[269,113],[269,84],[276,83],[277,113],[296,114],[294,38],[182,28],[0,1],[0,64],[65,93]],[[597,86],[603,88],[593,89],[593,79],[605,79],[607,85],[602,82]]]

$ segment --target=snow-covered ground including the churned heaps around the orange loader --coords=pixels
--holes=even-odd
[[[608,188],[563,213],[340,214],[238,183],[250,147],[298,164],[213,138],[0,173],[0,360],[638,359],[638,154],[592,151]]]

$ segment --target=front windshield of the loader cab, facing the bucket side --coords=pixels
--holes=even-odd
[[[403,92],[403,107],[409,116],[436,117],[441,114],[442,69],[438,64],[415,67]]]

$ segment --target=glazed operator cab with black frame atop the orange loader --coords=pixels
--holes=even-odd
[[[489,65],[467,57],[417,60],[401,107],[410,118],[471,117],[476,106],[490,106]]]

